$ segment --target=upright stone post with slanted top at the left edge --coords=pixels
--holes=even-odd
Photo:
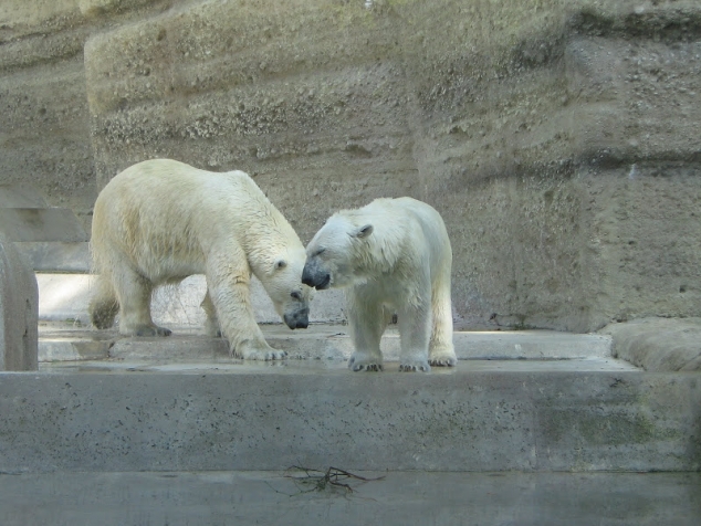
[[[34,273],[0,232],[0,370],[38,368],[38,316]]]

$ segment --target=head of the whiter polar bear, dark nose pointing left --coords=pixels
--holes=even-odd
[[[317,290],[367,281],[375,257],[373,223],[354,211],[337,212],[306,246],[302,283]]]

